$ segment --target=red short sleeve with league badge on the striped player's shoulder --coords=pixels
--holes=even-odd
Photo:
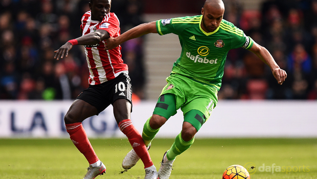
[[[107,31],[110,37],[117,36],[119,31],[119,20],[117,16],[111,15],[109,18],[105,17],[100,23],[99,29]]]

